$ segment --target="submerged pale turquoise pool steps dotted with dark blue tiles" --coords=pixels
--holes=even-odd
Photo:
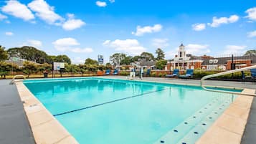
[[[217,96],[216,98],[214,98],[214,100],[209,102],[200,110],[196,111],[194,115],[191,115],[182,123],[166,133],[166,135],[163,135],[163,137],[157,140],[154,144],[176,144],[181,142],[181,140],[194,143],[195,140],[197,140],[202,135],[202,133],[204,133],[204,131],[207,130],[207,128],[209,128],[212,123],[214,123],[214,120],[216,120],[219,116],[217,114],[222,113],[218,111],[217,114],[215,114],[214,112],[216,112],[216,110],[219,108],[221,108],[219,110],[224,110],[225,107],[222,105],[229,105],[230,102],[231,100],[223,100],[222,97]],[[205,116],[205,114],[207,114],[207,117]],[[206,125],[201,125],[203,123]]]

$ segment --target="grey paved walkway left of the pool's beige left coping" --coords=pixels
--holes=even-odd
[[[10,81],[0,80],[0,143],[34,144],[18,91]]]

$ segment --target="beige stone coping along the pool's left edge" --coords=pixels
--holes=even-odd
[[[78,143],[23,82],[15,82],[15,84],[19,97],[24,102],[24,112],[27,115],[36,143]]]

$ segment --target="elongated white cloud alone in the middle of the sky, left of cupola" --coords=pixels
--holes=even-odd
[[[146,26],[146,27],[137,26],[136,32],[132,32],[132,34],[134,34],[136,36],[143,36],[143,34],[146,34],[146,33],[160,32],[162,28],[163,27],[162,27],[161,24],[155,24],[153,27],[151,27],[151,26]]]

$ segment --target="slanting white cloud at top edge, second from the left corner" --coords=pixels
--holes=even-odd
[[[29,9],[36,12],[36,15],[40,19],[46,21],[48,24],[60,25],[60,22],[63,21],[63,18],[54,12],[54,7],[49,6],[44,0],[34,0],[28,6]]]

